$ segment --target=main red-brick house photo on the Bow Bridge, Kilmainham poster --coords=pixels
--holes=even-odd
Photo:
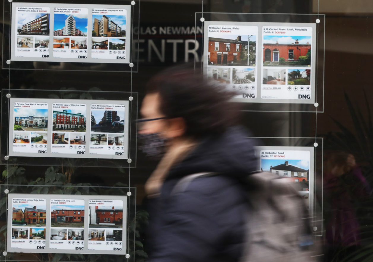
[[[115,205],[117,204],[117,205]],[[113,206],[89,206],[89,227],[122,228],[123,203],[118,200]]]

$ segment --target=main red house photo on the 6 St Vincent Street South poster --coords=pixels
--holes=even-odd
[[[311,36],[263,36],[263,66],[310,66]]]

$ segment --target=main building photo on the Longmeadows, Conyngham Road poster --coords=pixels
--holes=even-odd
[[[92,37],[126,37],[126,16],[92,15]]]

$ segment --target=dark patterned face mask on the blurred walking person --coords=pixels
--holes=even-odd
[[[159,133],[138,134],[138,141],[141,152],[151,159],[159,160],[166,152],[167,140]]]

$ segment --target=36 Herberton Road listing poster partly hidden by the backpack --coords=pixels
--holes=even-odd
[[[257,147],[260,169],[300,184],[300,194],[310,203],[313,192],[313,147]]]

